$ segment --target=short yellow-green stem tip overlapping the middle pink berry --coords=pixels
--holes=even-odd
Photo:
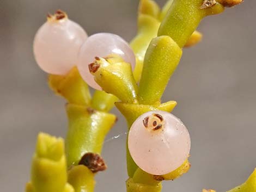
[[[95,81],[104,91],[117,96],[121,101],[136,103],[138,86],[131,65],[118,55],[109,58],[99,58],[90,64],[97,67],[96,71],[92,71]]]

